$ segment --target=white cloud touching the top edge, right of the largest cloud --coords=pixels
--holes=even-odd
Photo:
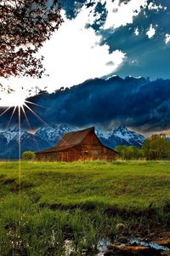
[[[105,29],[111,27],[117,28],[119,26],[126,26],[133,23],[133,17],[139,15],[141,7],[147,6],[147,0],[131,0],[128,3],[119,4],[119,0],[102,0],[102,3],[106,2],[106,9],[108,12],[107,19],[105,21]]]

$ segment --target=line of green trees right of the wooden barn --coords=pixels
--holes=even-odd
[[[152,135],[144,141],[142,148],[117,146],[116,151],[123,160],[170,160],[170,142],[164,134]]]

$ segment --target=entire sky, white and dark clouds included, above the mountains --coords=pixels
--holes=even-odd
[[[38,52],[45,57],[49,76],[0,79],[0,108],[22,106],[39,89],[52,93],[79,84],[77,94],[73,87],[61,94],[62,99],[58,93],[38,96],[38,103],[57,109],[57,116],[53,111],[36,111],[52,123],[94,122],[106,127],[123,123],[146,133],[169,131],[169,0],[61,0],[61,4],[65,22]],[[119,85],[116,75],[122,78]],[[126,77],[136,78],[132,80],[135,89]],[[142,77],[143,86],[138,82]],[[96,78],[103,84],[99,91],[94,88]],[[88,93],[82,90],[86,80]],[[107,81],[110,87],[105,88]],[[8,85],[14,90],[10,94]],[[84,123],[83,113],[88,123]],[[0,125],[6,118],[8,115]],[[37,127],[37,120],[31,118],[31,122]]]

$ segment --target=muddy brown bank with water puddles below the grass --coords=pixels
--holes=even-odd
[[[156,235],[155,235],[156,236]],[[102,239],[97,247],[83,247],[80,251],[73,240],[65,240],[65,256],[170,256],[170,233],[157,240],[118,235],[114,241]],[[158,236],[157,236],[158,238]]]

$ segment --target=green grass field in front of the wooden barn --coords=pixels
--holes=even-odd
[[[129,236],[169,228],[168,161],[1,162],[0,183],[2,255],[66,255],[65,239],[82,255],[119,223]]]

